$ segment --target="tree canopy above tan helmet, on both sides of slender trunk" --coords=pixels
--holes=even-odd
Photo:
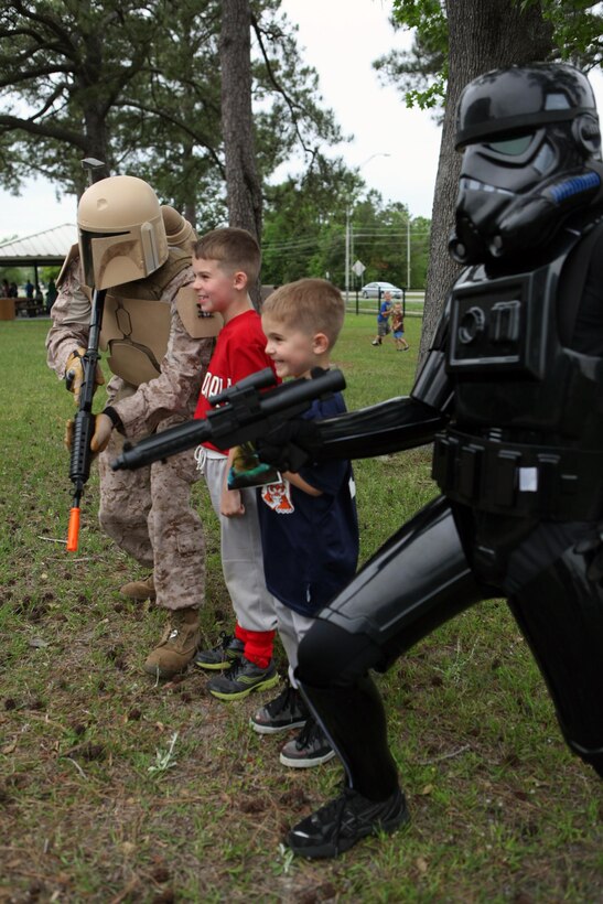
[[[278,0],[255,0],[257,163],[341,140]],[[226,217],[217,0],[15,0],[0,12],[0,182],[84,187],[80,160],[150,181],[198,220]],[[319,153],[320,157],[320,153]],[[196,215],[196,216],[195,216]]]

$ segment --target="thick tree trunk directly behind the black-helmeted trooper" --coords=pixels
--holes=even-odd
[[[542,19],[540,3],[525,12],[516,0],[452,0],[446,3],[449,79],[440,160],[431,222],[419,366],[429,349],[448,290],[459,266],[448,252],[454,225],[461,154],[454,150],[456,105],[464,86],[488,69],[547,60],[552,51],[552,28]]]

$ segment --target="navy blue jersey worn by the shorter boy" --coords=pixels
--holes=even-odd
[[[337,392],[314,401],[303,417],[320,420],[345,410]],[[299,474],[322,495],[288,481],[258,489],[263,571],[273,596],[313,616],[356,572],[358,516],[348,461],[308,465]]]

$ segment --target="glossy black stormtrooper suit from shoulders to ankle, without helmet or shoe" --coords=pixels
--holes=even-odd
[[[586,235],[594,246],[588,257]],[[603,776],[601,236],[591,214],[540,259],[532,256],[529,269],[508,261],[467,268],[411,398],[381,407],[384,429],[366,411],[323,424],[325,455],[330,444],[337,455],[357,455],[363,444],[363,455],[375,455],[392,448],[397,408],[398,449],[435,439],[433,477],[442,491],[320,613],[300,645],[302,687],[327,733],[331,727],[351,783],[367,796],[375,762],[356,750],[353,725],[369,709],[363,695],[374,697],[367,668],[387,668],[435,626],[496,595],[509,601],[566,740]],[[337,688],[352,693],[346,711],[356,707],[348,724]]]

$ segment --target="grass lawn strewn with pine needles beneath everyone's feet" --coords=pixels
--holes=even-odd
[[[375,318],[348,315],[334,356],[348,408],[408,392],[421,321],[406,325],[402,354],[370,345]],[[336,861],[291,858],[286,828],[342,768],[279,764],[283,739],[248,727],[270,692],[223,704],[204,675],[142,672],[164,618],[119,596],[141,572],[98,528],[96,471],[65,551],[73,402],[45,365],[47,327],[0,323],[0,902],[603,902],[602,783],[567,750],[497,600],[377,676],[409,830]],[[366,560],[435,486],[428,448],[355,471]],[[195,503],[212,643],[230,606],[201,484]]]

